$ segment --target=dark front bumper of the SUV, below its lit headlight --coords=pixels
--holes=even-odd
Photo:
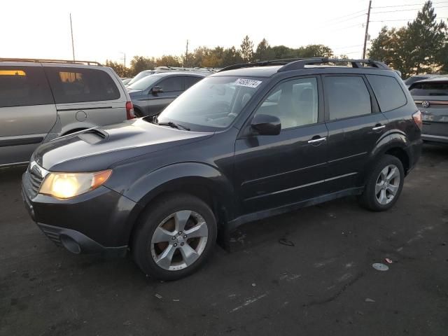
[[[22,197],[31,219],[57,246],[72,253],[124,255],[130,239],[135,202],[101,186],[69,200],[34,195],[27,172]]]

